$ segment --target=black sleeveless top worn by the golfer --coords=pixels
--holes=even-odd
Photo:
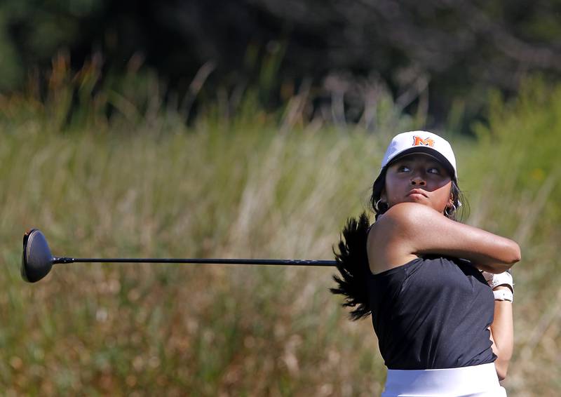
[[[491,288],[455,258],[423,257],[368,278],[372,324],[391,370],[492,363]]]

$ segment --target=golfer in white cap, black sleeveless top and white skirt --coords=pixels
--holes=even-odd
[[[349,220],[332,292],[372,314],[383,397],[503,397],[518,244],[456,221],[454,152],[426,131],[393,138],[372,187],[376,222]]]

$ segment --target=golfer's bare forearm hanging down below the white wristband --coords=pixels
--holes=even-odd
[[[493,290],[506,289],[506,285],[499,285]],[[507,300],[495,301],[495,314],[491,324],[492,349],[496,355],[495,369],[499,380],[506,378],[508,363],[513,356],[513,303]]]

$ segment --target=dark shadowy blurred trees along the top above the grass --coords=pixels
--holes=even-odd
[[[382,89],[410,114],[426,107],[431,125],[453,113],[466,132],[489,89],[515,96],[529,73],[559,78],[560,13],[551,0],[5,0],[0,91],[21,89],[29,72],[42,78],[34,71],[60,52],[73,69],[103,54],[104,78],[133,60],[180,97],[212,65],[196,104],[253,86],[272,108],[307,92],[309,119],[335,102],[334,121],[357,121]]]

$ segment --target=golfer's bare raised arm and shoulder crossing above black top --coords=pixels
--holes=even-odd
[[[448,219],[418,203],[399,203],[374,224],[368,239],[374,273],[391,269],[418,255],[440,254],[477,263],[489,273],[502,273],[520,260],[514,241]]]

